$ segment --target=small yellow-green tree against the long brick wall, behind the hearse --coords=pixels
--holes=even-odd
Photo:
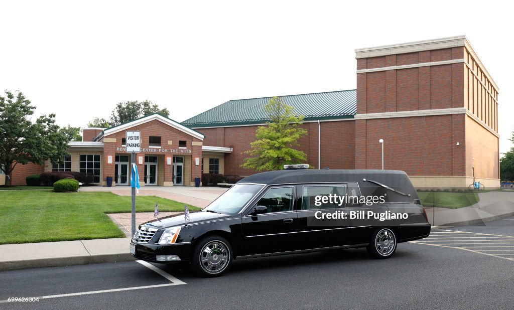
[[[257,129],[256,140],[250,143],[251,149],[245,152],[251,157],[246,158],[241,167],[267,171],[283,169],[287,164],[305,163],[305,153],[292,148],[298,146],[298,139],[307,133],[299,127],[303,115],[293,113],[293,108],[279,97],[270,99],[264,109],[268,114],[268,125]]]

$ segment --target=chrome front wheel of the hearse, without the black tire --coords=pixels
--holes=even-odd
[[[218,240],[210,241],[200,251],[200,266],[209,274],[218,274],[228,266],[230,250]]]

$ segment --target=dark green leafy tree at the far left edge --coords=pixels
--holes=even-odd
[[[55,114],[41,115],[32,123],[35,106],[22,92],[0,96],[0,169],[9,177],[17,164],[58,163],[68,150],[68,138],[55,124]]]

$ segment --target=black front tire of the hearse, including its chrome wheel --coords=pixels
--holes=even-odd
[[[218,277],[227,272],[232,264],[232,246],[221,236],[210,236],[195,247],[193,269],[202,277]]]

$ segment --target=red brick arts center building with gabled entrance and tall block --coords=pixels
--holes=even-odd
[[[408,173],[417,187],[499,187],[498,86],[465,36],[356,49],[357,89],[283,96],[305,117],[299,149],[317,168]],[[241,168],[270,98],[231,100],[182,123],[149,115],[118,127],[83,130],[62,165],[18,165],[13,184],[40,171],[93,172],[127,185],[126,130],[140,130],[142,184],[193,185],[204,172]]]

